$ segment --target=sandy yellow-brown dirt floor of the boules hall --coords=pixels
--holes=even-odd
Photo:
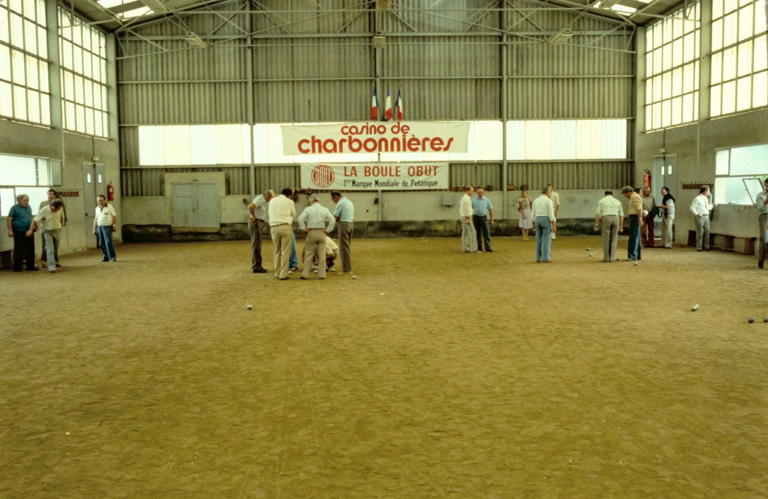
[[[756,258],[493,242],[353,240],[356,280],[246,241],[3,271],[0,497],[768,497]]]

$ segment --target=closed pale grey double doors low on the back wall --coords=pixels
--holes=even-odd
[[[219,228],[219,189],[216,182],[172,184],[174,227]]]

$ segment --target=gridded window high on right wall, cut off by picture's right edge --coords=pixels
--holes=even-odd
[[[765,0],[713,0],[710,115],[768,105]]]

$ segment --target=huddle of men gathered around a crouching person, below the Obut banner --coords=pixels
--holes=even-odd
[[[303,256],[301,279],[310,277],[314,262],[317,262],[317,277],[324,279],[326,270],[333,266],[333,261],[340,256],[342,263],[341,274],[352,274],[351,242],[354,231],[355,206],[353,202],[340,192],[331,192],[331,199],[336,203],[333,214],[320,204],[318,195],[309,197],[309,206],[296,218],[296,197],[291,189],[283,189],[280,195],[271,190],[257,195],[248,205],[250,219],[248,230],[251,239],[251,268],[254,274],[264,274],[262,265],[261,231],[266,223],[270,225],[270,235],[274,245],[274,275],[280,281],[288,279],[290,270],[290,255],[295,249],[293,237],[293,222],[299,223],[299,228],[306,236]],[[269,207],[267,207],[269,205]],[[269,216],[269,221],[266,218]],[[338,225],[339,246],[328,235]]]

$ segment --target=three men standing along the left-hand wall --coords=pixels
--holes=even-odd
[[[21,272],[25,266],[28,271],[38,271],[35,267],[35,232],[42,230],[41,264],[51,274],[61,268],[58,260],[58,242],[61,228],[67,225],[64,202],[55,189],[48,189],[48,200],[40,203],[37,215],[32,216],[29,196],[19,194],[16,204],[8,212],[8,237],[13,238],[13,271]],[[108,204],[104,195],[98,196],[98,206],[94,218],[94,235],[98,237],[104,258],[101,261],[117,261],[112,242],[112,233],[117,231],[117,215],[114,207]]]

